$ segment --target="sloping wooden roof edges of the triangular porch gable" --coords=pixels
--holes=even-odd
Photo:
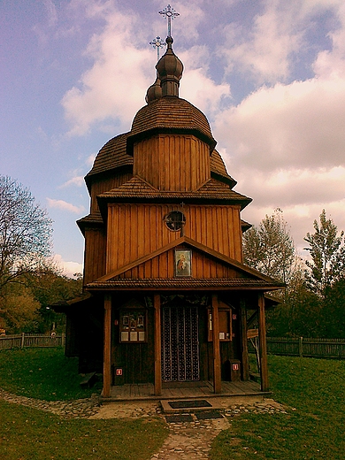
[[[131,270],[134,267],[136,267],[138,265],[141,265],[141,264],[153,259],[154,257],[157,257],[157,256],[167,252],[170,249],[176,248],[180,244],[185,244],[185,245],[187,245],[187,246],[189,246],[191,248],[197,249],[198,251],[202,252],[203,254],[205,254],[205,255],[207,255],[209,257],[215,258],[219,262],[221,262],[223,264],[226,264],[226,265],[229,265],[232,268],[234,268],[235,270],[249,275],[250,278],[265,281],[265,283],[272,284],[274,287],[280,286],[280,288],[283,288],[285,286],[284,283],[280,283],[280,281],[274,280],[273,278],[271,278],[269,276],[266,276],[261,272],[257,272],[257,270],[255,270],[253,268],[250,268],[248,265],[244,265],[241,262],[238,262],[237,260],[234,260],[231,257],[227,257],[224,254],[221,254],[220,252],[218,252],[218,251],[216,251],[214,249],[211,249],[211,248],[209,248],[207,246],[204,246],[202,243],[196,242],[195,240],[192,240],[191,238],[188,238],[188,236],[181,236],[177,240],[174,240],[173,242],[170,242],[169,244],[166,244],[164,247],[162,247],[160,249],[156,249],[156,250],[154,250],[153,252],[151,252],[150,254],[148,254],[146,256],[140,257],[139,259],[136,259],[133,262],[127,264],[127,265],[119,267],[114,272],[111,272],[111,273],[108,273],[106,275],[103,275],[101,278],[98,278],[98,280],[96,280],[96,283],[103,283],[103,282],[106,282],[106,281],[110,281],[111,279],[119,276],[121,273],[124,273],[124,272],[126,272],[128,270]],[[189,280],[192,280],[192,279],[189,279]]]

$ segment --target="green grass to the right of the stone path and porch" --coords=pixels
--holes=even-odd
[[[232,419],[211,449],[212,460],[345,458],[345,362],[269,357],[276,401],[288,415],[246,413]]]

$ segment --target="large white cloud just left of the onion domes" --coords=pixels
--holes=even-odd
[[[62,99],[72,135],[85,134],[95,123],[109,119],[119,131],[127,130],[155,78],[151,50],[135,47],[139,18],[112,11],[106,21],[103,32],[92,36],[86,50],[94,64],[81,75],[80,85]]]

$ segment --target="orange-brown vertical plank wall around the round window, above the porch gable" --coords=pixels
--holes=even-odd
[[[176,209],[166,204],[110,204],[106,272],[133,262],[180,238],[164,222]],[[185,206],[185,236],[211,249],[242,261],[241,221],[238,206]],[[214,273],[205,275],[206,278]]]

